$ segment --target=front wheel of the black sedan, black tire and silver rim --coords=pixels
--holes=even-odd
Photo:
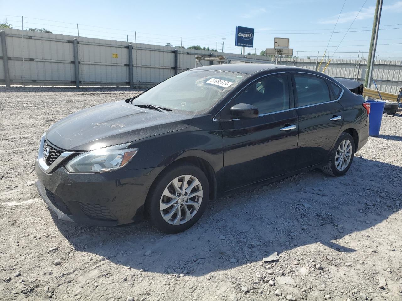
[[[183,193],[185,180],[187,189]],[[190,185],[193,187],[190,188]],[[188,189],[190,190],[187,192]],[[194,196],[189,197],[190,195]],[[207,177],[201,169],[186,163],[163,171],[155,180],[148,193],[146,209],[152,224],[158,230],[178,233],[189,229],[199,220],[207,207],[208,199]],[[175,211],[172,213],[173,210]]]

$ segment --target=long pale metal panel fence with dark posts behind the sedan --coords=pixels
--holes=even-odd
[[[258,55],[176,50],[160,45],[2,29],[0,85],[150,86],[196,67],[196,55],[224,56],[232,63],[244,62],[245,57],[256,63],[275,63],[275,59]],[[324,59],[319,71],[327,62]],[[201,61],[199,66],[212,63]],[[278,63],[316,70],[320,58],[283,59]],[[335,59],[325,73],[363,82],[366,67],[365,59]],[[373,77],[380,91],[398,93],[402,86],[402,61],[375,61]]]

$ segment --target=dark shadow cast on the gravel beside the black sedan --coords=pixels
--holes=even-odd
[[[381,178],[373,177],[379,172]],[[373,227],[400,209],[395,205],[400,188],[385,185],[401,174],[396,165],[355,157],[343,177],[310,171],[210,202],[197,224],[179,234],[158,232],[146,221],[108,228],[52,217],[77,251],[102,256],[96,257],[99,262],[106,258],[122,268],[201,276],[298,246],[360,250],[338,240]]]

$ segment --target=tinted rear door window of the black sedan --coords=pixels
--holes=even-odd
[[[294,75],[297,89],[298,106],[308,106],[329,102],[330,95],[325,80],[310,75]]]

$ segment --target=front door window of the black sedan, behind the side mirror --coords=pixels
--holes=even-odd
[[[259,114],[289,109],[289,85],[287,75],[269,76],[248,86],[235,99],[235,104],[251,104]]]

